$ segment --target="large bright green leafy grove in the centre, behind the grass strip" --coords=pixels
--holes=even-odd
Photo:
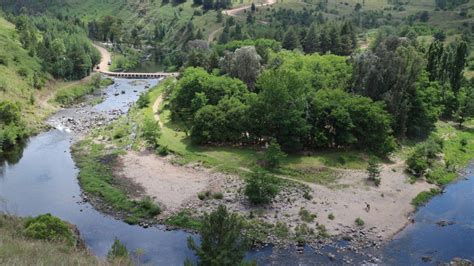
[[[344,91],[351,67],[343,57],[285,51],[274,54],[268,66],[253,89],[240,79],[186,69],[171,98],[173,117],[201,144],[275,139],[286,150],[393,150],[384,105]]]

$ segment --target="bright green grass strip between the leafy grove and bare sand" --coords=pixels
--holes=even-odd
[[[149,92],[150,104],[143,109],[143,117],[153,117],[153,103],[163,93],[165,86],[171,86],[173,81],[165,81]],[[263,157],[263,152],[257,148],[249,147],[214,147],[198,146],[191,143],[190,138],[181,125],[171,121],[170,111],[166,108],[166,101],[161,104],[160,120],[163,122],[160,145],[167,146],[173,153],[180,156],[179,163],[201,162],[205,166],[214,167],[216,170],[245,174],[256,166],[256,162]],[[363,153],[352,151],[318,152],[311,156],[290,155],[282,162],[285,172],[299,175],[308,167],[342,167],[348,169],[363,169],[366,167],[366,156]],[[329,171],[328,171],[329,172]],[[327,173],[307,173],[303,179],[318,183],[319,179],[334,179]],[[328,183],[321,181],[319,183]]]

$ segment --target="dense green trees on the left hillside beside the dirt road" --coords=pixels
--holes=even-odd
[[[99,52],[78,21],[21,15],[15,18],[15,25],[23,47],[38,56],[44,69],[56,78],[83,78],[100,62]]]

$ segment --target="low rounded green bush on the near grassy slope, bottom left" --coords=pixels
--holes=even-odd
[[[70,246],[76,242],[68,224],[49,213],[27,218],[23,234],[34,239],[65,242]]]

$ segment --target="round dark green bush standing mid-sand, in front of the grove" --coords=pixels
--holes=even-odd
[[[253,204],[270,203],[278,194],[277,179],[265,172],[256,172],[246,180],[245,195]]]

